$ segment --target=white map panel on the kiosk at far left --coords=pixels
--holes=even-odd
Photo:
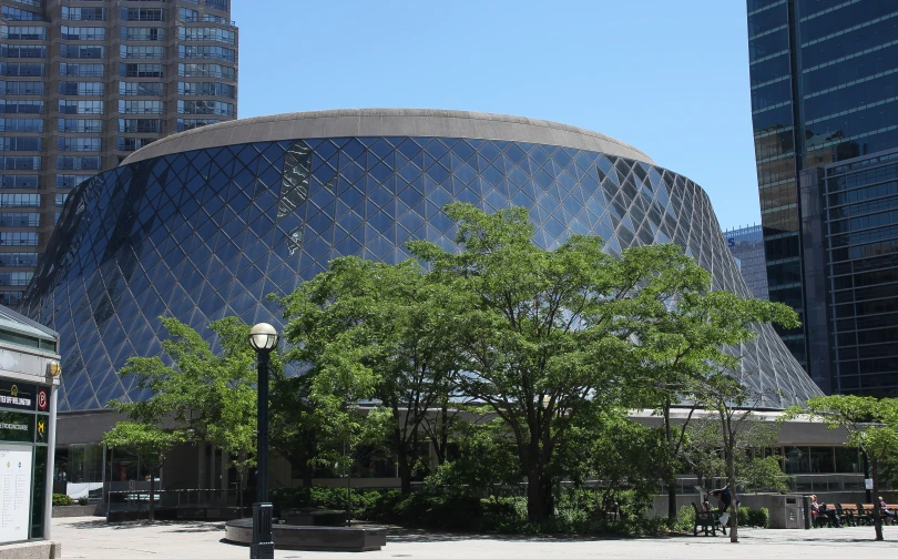
[[[0,543],[28,539],[31,447],[0,445]]]

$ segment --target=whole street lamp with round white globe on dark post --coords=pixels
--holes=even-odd
[[[253,504],[253,545],[249,559],[274,559],[272,504],[268,502],[268,355],[277,346],[277,331],[259,323],[249,331],[258,368],[258,446],[256,448],[256,502]]]

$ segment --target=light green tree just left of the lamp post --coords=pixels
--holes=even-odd
[[[153,395],[143,402],[112,402],[113,409],[143,424],[147,433],[172,425],[190,443],[210,441],[228,453],[239,472],[241,509],[248,468],[255,465],[255,353],[246,342],[249,326],[236,317],[210,324],[222,354],[216,355],[196,331],[172,317],[161,317],[169,333],[163,357],[132,357],[119,372],[134,377]],[[273,359],[276,362],[276,359]]]

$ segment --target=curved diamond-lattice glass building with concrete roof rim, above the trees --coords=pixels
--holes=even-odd
[[[160,141],[135,154],[143,159],[84,183],[24,303],[29,316],[60,333],[60,408],[145,397],[115,370],[131,356],[160,352],[160,315],[200,332],[227,315],[280,325],[266,295],[292,292],[336,256],[396,263],[414,238],[451,247],[453,224],[441,209],[452,201],[486,211],[525,206],[535,242],[548,248],[572,233],[601,235],[612,253],[674,242],[712,271],[715,288],[751,295],[706,194],[685,176],[613,140],[601,145],[630,156],[565,140],[599,145],[595,133],[463,114],[435,123],[379,112],[363,126],[358,116],[299,113],[302,135],[285,131],[284,118],[237,121]],[[344,121],[364,134],[338,135]],[[397,134],[408,129],[420,133]],[[267,141],[232,143],[252,136]],[[544,141],[527,141],[534,138]],[[741,352],[756,388],[780,390],[768,405],[818,394],[773,329],[762,328]]]

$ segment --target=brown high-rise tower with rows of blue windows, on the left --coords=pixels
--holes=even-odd
[[[0,304],[68,193],[164,135],[237,116],[229,0],[0,0]]]

